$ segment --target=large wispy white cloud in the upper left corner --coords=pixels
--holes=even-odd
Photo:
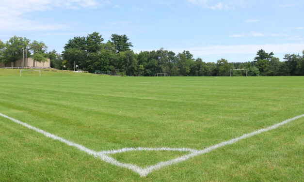
[[[23,15],[54,8],[96,8],[102,3],[108,2],[97,0],[3,0],[0,6],[1,30],[61,30],[66,28],[66,25],[28,19]]]

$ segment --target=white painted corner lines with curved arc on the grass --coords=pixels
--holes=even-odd
[[[161,167],[165,167],[165,166],[170,166],[170,165],[173,165],[173,164],[176,164],[176,163],[179,163],[179,162],[182,162],[182,161],[185,161],[187,159],[190,159],[194,156],[197,156],[197,155],[201,155],[201,154],[204,154],[204,153],[208,153],[208,152],[211,152],[217,148],[220,148],[220,147],[223,147],[225,145],[230,145],[230,144],[233,144],[241,139],[245,139],[245,138],[248,138],[248,137],[251,137],[251,136],[255,136],[257,134],[260,134],[260,133],[263,133],[263,132],[267,132],[269,130],[273,130],[281,125],[284,125],[284,124],[287,124],[288,122],[290,121],[294,121],[296,119],[299,119],[299,118],[302,118],[304,117],[304,114],[302,115],[299,115],[299,116],[296,116],[294,118],[290,118],[290,119],[287,119],[285,121],[282,121],[280,123],[277,123],[277,124],[274,124],[272,126],[269,126],[267,128],[264,128],[264,129],[259,129],[259,130],[256,130],[255,132],[252,132],[252,133],[249,133],[249,134],[244,134],[240,137],[236,137],[236,138],[233,138],[233,139],[230,139],[230,140],[227,140],[227,141],[224,141],[224,142],[221,142],[219,144],[216,144],[216,145],[213,145],[211,147],[208,147],[206,149],[203,149],[203,150],[193,150],[193,149],[187,149],[187,148],[181,148],[181,149],[178,149],[178,148],[123,148],[123,149],[118,149],[118,150],[110,150],[110,151],[102,151],[102,152],[96,152],[96,151],[93,151],[93,150],[90,150],[80,144],[77,144],[77,143],[74,143],[74,142],[71,142],[69,140],[66,140],[62,137],[59,137],[59,136],[56,136],[56,135],[53,135],[53,134],[50,134],[44,130],[41,130],[39,128],[36,128],[36,127],[33,127],[25,122],[21,122],[21,121],[18,121],[14,118],[11,118],[9,116],[6,116],[2,113],[0,113],[0,116],[4,117],[4,118],[7,118],[11,121],[14,121],[18,124],[21,124],[29,129],[32,129],[38,133],[41,133],[43,134],[44,136],[47,136],[49,138],[52,138],[54,140],[59,140],[60,142],[62,143],[65,143],[69,146],[73,146],[73,147],[76,147],[77,149],[79,149],[80,151],[83,151],[83,152],[86,152],[88,153],[89,155],[93,155],[94,157],[96,158],[99,158],[107,163],[110,163],[112,165],[115,165],[115,166],[118,166],[118,167],[125,167],[125,168],[128,168],[128,169],[131,169],[135,172],[137,172],[141,177],[144,177],[144,176],[147,176],[150,172],[152,172],[153,170],[157,170],[157,169],[160,169]],[[108,154],[114,154],[114,153],[120,153],[120,152],[128,152],[128,151],[179,151],[179,152],[190,152],[189,154],[186,154],[186,155],[183,155],[181,157],[177,157],[175,159],[172,159],[172,160],[169,160],[169,161],[163,161],[163,162],[160,162],[160,163],[157,163],[156,165],[152,165],[152,166],[148,166],[148,167],[138,167],[136,165],[133,165],[133,164],[126,164],[126,163],[121,163],[119,161],[117,161],[116,159],[110,157]]]

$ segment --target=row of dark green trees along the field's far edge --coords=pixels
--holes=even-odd
[[[204,62],[194,59],[189,51],[174,53],[159,50],[134,53],[127,35],[112,34],[110,40],[104,39],[98,32],[83,37],[69,39],[64,51],[59,54],[55,50],[47,52],[43,42],[23,37],[12,37],[5,44],[0,41],[0,61],[7,63],[22,58],[22,48],[35,61],[49,58],[51,67],[73,70],[74,61],[83,71],[94,73],[96,70],[112,72],[123,76],[154,76],[156,73],[167,73],[168,76],[230,76],[230,69],[247,69],[249,76],[304,76],[304,51],[300,54],[286,54],[284,61],[274,57],[272,52],[263,49],[257,51],[253,61],[228,62],[225,59],[216,62]],[[242,71],[234,71],[234,76],[244,75]]]

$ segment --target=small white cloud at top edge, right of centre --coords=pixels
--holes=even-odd
[[[244,6],[244,0],[188,0],[191,5],[211,10],[234,10]]]

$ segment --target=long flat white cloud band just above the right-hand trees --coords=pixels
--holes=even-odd
[[[238,54],[256,54],[259,49],[264,49],[266,52],[273,52],[274,54],[288,54],[302,52],[304,43],[294,44],[265,44],[265,45],[213,45],[213,46],[200,46],[200,47],[183,47],[183,48],[165,48],[172,50],[176,53],[184,50],[189,50],[197,57],[204,56],[222,56],[222,55],[238,55]],[[152,50],[152,49],[151,49]],[[155,50],[155,49],[153,49]],[[135,52],[141,50],[134,49]]]

